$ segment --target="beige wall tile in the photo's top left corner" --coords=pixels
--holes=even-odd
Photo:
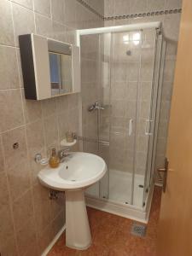
[[[15,45],[11,3],[8,0],[0,1],[0,24],[0,44]]]

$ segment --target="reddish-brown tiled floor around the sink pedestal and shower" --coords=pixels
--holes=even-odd
[[[65,234],[49,252],[49,256],[155,256],[156,228],[160,213],[161,189],[155,187],[147,234],[144,238],[132,236],[127,218],[88,208],[93,244],[86,251],[65,247]]]

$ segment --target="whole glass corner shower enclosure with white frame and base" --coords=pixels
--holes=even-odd
[[[86,190],[91,207],[146,221],[166,40],[160,22],[78,31],[82,141],[108,173]]]

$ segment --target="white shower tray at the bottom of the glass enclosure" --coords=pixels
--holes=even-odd
[[[102,191],[103,186],[100,188],[99,183],[96,183],[86,192],[86,204],[104,212],[147,223],[154,186],[149,190],[145,207],[143,207],[143,175],[135,175],[133,205],[131,205],[131,183],[131,173],[110,170],[108,198],[105,195],[106,191]]]

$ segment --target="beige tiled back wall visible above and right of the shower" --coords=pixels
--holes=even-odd
[[[168,119],[181,15],[179,9],[181,7],[182,0],[105,0],[105,26],[161,21],[164,33],[169,38],[166,49],[166,65],[160,107],[160,126],[155,169],[164,166],[166,155]],[[134,15],[137,15],[137,18],[134,18]],[[126,19],[126,17],[129,18]],[[156,180],[158,182],[159,177]]]

